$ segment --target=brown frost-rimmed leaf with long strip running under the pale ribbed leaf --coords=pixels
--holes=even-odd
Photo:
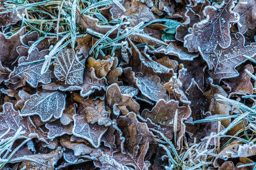
[[[106,88],[107,82],[105,77],[99,79],[96,77],[94,69],[90,70],[85,68],[84,70],[84,82],[81,85],[64,85],[60,82],[52,82],[47,85],[43,85],[43,88],[50,91],[60,90],[60,91],[76,91],[80,90],[80,95],[82,97],[89,96],[96,89],[101,90]]]

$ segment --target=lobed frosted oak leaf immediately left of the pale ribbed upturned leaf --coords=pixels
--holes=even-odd
[[[28,65],[19,65],[14,68],[14,71],[9,75],[9,81],[13,84],[17,83],[17,77],[20,79],[26,80],[32,87],[36,88],[38,83],[41,82],[43,84],[47,84],[51,82],[52,72],[47,71],[44,74],[41,74],[41,68],[44,64],[42,61],[38,61],[44,59],[44,56],[49,54],[48,50],[38,51],[35,48],[28,57],[21,57],[19,59],[19,63],[29,62],[31,64]]]

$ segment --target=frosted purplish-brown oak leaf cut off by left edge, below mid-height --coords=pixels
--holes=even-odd
[[[19,111],[15,111],[12,103],[6,102],[3,105],[3,113],[0,114],[0,135],[8,131],[8,133],[3,136],[4,139],[14,136],[17,130],[22,127],[22,129],[25,130],[24,136],[49,142],[47,133],[44,133],[41,128],[37,129],[29,117],[22,119],[19,113]]]

